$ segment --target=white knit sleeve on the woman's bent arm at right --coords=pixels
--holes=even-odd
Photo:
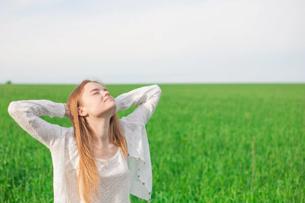
[[[158,85],[143,86],[131,90],[115,98],[116,111],[123,111],[131,106],[139,105],[127,116],[127,119],[146,125],[159,103],[161,94],[162,91]]]

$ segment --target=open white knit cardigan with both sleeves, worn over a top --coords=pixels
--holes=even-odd
[[[143,86],[115,98],[116,112],[139,105],[120,123],[128,148],[130,194],[150,202],[153,177],[145,125],[153,115],[161,97],[158,85]],[[50,100],[12,101],[8,107],[11,117],[32,137],[51,152],[53,163],[54,202],[70,202],[65,172],[77,170],[78,152],[73,127],[51,124],[39,116],[63,118],[65,107]]]

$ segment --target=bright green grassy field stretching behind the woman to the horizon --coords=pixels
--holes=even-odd
[[[107,88],[116,97],[141,86]],[[305,202],[305,84],[159,86],[146,124],[151,202]],[[10,101],[67,103],[74,87],[0,85],[0,202],[53,202],[51,154],[10,117]]]

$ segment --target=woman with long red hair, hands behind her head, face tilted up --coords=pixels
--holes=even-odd
[[[105,85],[84,80],[68,104],[50,100],[12,101],[8,111],[31,136],[51,151],[54,202],[130,202],[129,194],[150,202],[152,174],[145,124],[161,97],[158,85],[116,98]],[[139,105],[118,119],[116,112]],[[39,116],[66,116],[73,127]]]

